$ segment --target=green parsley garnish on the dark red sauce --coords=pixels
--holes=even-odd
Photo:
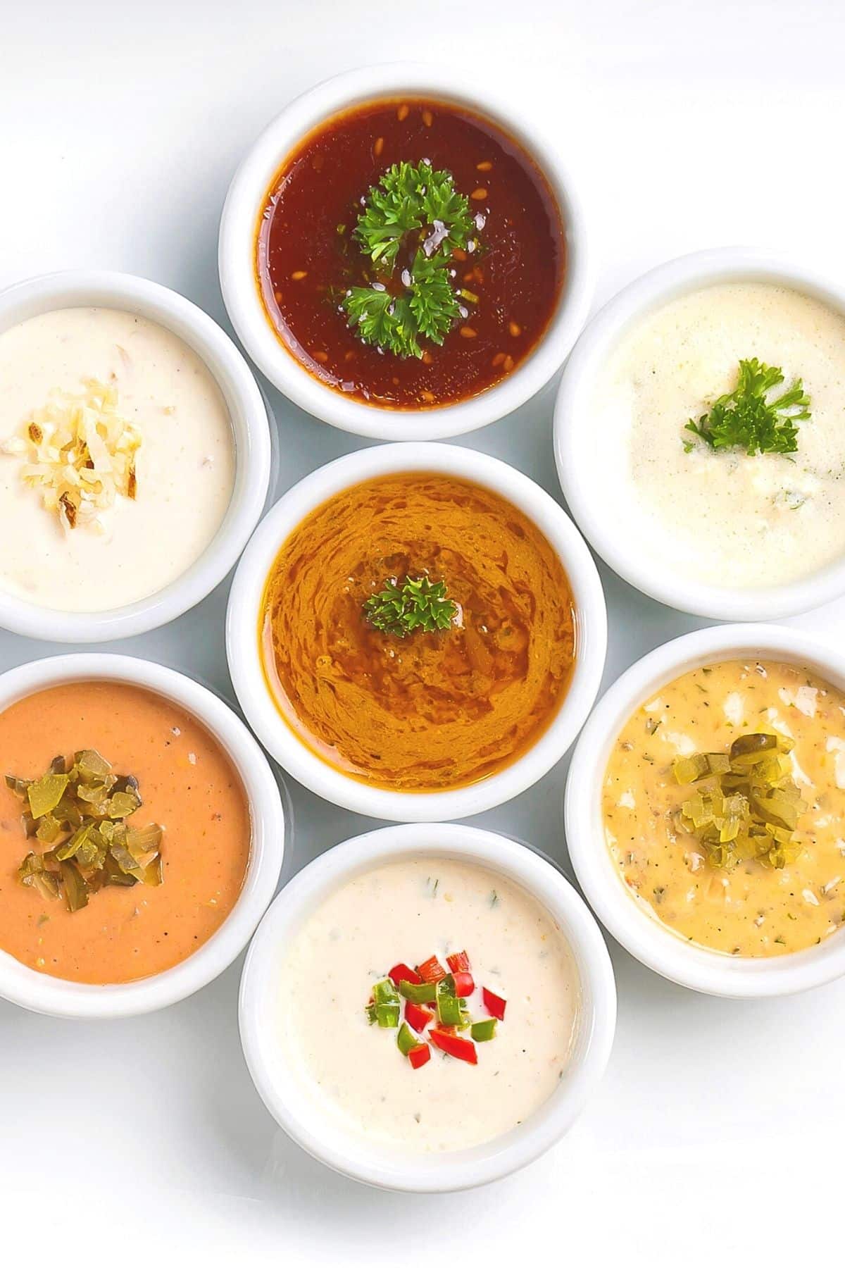
[[[370,189],[352,233],[376,276],[346,292],[348,325],[397,356],[421,358],[421,337],[442,344],[460,316],[448,261],[474,233],[469,202],[451,172],[428,162],[394,164]]]

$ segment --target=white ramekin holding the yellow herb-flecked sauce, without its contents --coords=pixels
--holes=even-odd
[[[717,625],[664,643],[632,664],[593,710],[566,781],[569,857],[599,921],[631,955],[682,987],[739,999],[785,995],[845,973],[845,931],[808,951],[753,959],[687,942],[633,898],[604,839],[602,785],[613,744],[628,718],[663,686],[701,664],[769,659],[806,666],[845,691],[845,654],[784,625]]]

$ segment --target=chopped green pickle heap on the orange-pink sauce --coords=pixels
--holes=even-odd
[[[96,749],[75,753],[70,766],[56,757],[34,780],[6,775],[6,786],[25,803],[27,837],[49,847],[30,851],[18,869],[20,883],[42,898],[63,895],[77,912],[104,885],[161,885],[162,828],[129,827],[142,804],[138,781],[114,775]]]

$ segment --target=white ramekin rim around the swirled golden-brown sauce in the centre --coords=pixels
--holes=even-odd
[[[575,667],[549,728],[521,758],[497,775],[446,792],[370,787],[317,757],[284,721],[270,695],[258,647],[261,600],[281,545],[327,498],[391,472],[443,472],[474,481],[513,502],[545,534],[569,577],[575,604]],[[607,611],[592,555],[575,525],[533,481],[507,463],[456,445],[376,445],[318,468],[288,491],[258,525],[234,574],[226,621],[229,672],[247,721],[265,748],[312,792],[375,819],[462,819],[508,801],[564,756],[595,700],[607,649]]]

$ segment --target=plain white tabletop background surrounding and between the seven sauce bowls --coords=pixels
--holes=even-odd
[[[597,306],[661,260],[727,242],[845,274],[841,0],[0,0],[0,285],[125,269],[226,325],[217,223],[245,148],[312,82],[408,57],[542,117],[583,179]],[[357,445],[271,401],[281,487]],[[466,444],[559,496],[551,408],[546,391]],[[701,624],[602,576],[608,682]],[[224,605],[223,586],[115,649],[231,692]],[[796,624],[841,638],[845,602]],[[0,634],[0,668],[56,650]],[[566,867],[564,773],[480,822]],[[285,876],[370,825],[293,792]],[[137,1021],[0,1003],[0,1262],[694,1268],[841,1254],[845,983],[727,1003],[612,954],[619,1023],[598,1097],[528,1170],[447,1197],[366,1189],[275,1129],[241,1058],[239,962]]]

